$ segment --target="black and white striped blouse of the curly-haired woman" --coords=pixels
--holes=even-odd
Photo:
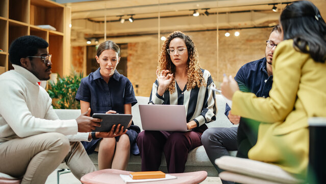
[[[186,108],[187,122],[194,120],[197,127],[216,120],[216,97],[214,91],[209,89],[210,86],[215,87],[215,84],[210,72],[204,69],[201,70],[204,74],[206,86],[200,86],[199,88],[196,86],[193,89],[187,90],[187,87],[185,87],[182,90],[178,86],[178,83],[175,82],[176,89],[172,94],[166,90],[163,96],[159,96],[157,94],[159,83],[156,80],[153,84],[151,96],[149,97],[149,104],[184,105]],[[200,129],[205,130],[207,126],[200,127]]]

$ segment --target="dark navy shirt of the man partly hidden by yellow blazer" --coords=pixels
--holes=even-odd
[[[254,93],[257,97],[269,97],[269,90],[273,83],[273,76],[268,77],[266,58],[252,61],[243,65],[234,78],[239,89],[244,92]],[[225,115],[228,116],[230,107],[225,107]]]

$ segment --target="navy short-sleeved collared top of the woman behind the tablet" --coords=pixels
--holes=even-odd
[[[124,113],[124,104],[131,103],[133,106],[137,103],[133,85],[127,77],[115,70],[106,83],[99,70],[82,79],[76,95],[77,101],[90,103],[91,116],[108,110]]]

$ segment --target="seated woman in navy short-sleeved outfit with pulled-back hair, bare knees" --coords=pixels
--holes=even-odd
[[[95,58],[99,68],[82,79],[76,95],[82,113],[90,107],[91,116],[93,113],[131,114],[137,100],[132,83],[116,71],[120,48],[112,41],[105,41],[99,45]],[[101,132],[95,132],[91,134],[91,142],[82,143],[88,154],[98,152],[98,169],[126,170],[130,152],[139,154],[136,145],[139,132],[139,127],[131,121],[126,134],[98,138]]]

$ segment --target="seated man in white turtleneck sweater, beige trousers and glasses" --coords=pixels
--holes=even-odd
[[[51,74],[47,47],[36,36],[17,38],[9,50],[15,70],[0,75],[0,172],[21,178],[21,183],[44,183],[62,162],[78,179],[96,170],[82,144],[65,135],[90,132],[101,120],[87,113],[59,120],[52,99],[37,84]],[[84,134],[87,140],[89,133]]]

